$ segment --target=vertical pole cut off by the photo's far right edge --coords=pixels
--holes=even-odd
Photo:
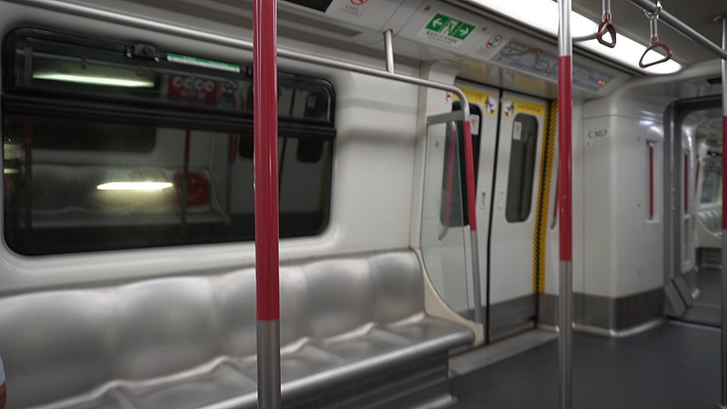
[[[722,17],[722,47],[727,49],[727,15]],[[727,60],[722,57],[722,409],[727,409]]]

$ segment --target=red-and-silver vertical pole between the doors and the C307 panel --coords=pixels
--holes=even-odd
[[[560,369],[560,407],[573,407],[573,42],[571,38],[571,0],[558,1],[558,202],[560,218],[560,287],[558,302],[558,362]]]

